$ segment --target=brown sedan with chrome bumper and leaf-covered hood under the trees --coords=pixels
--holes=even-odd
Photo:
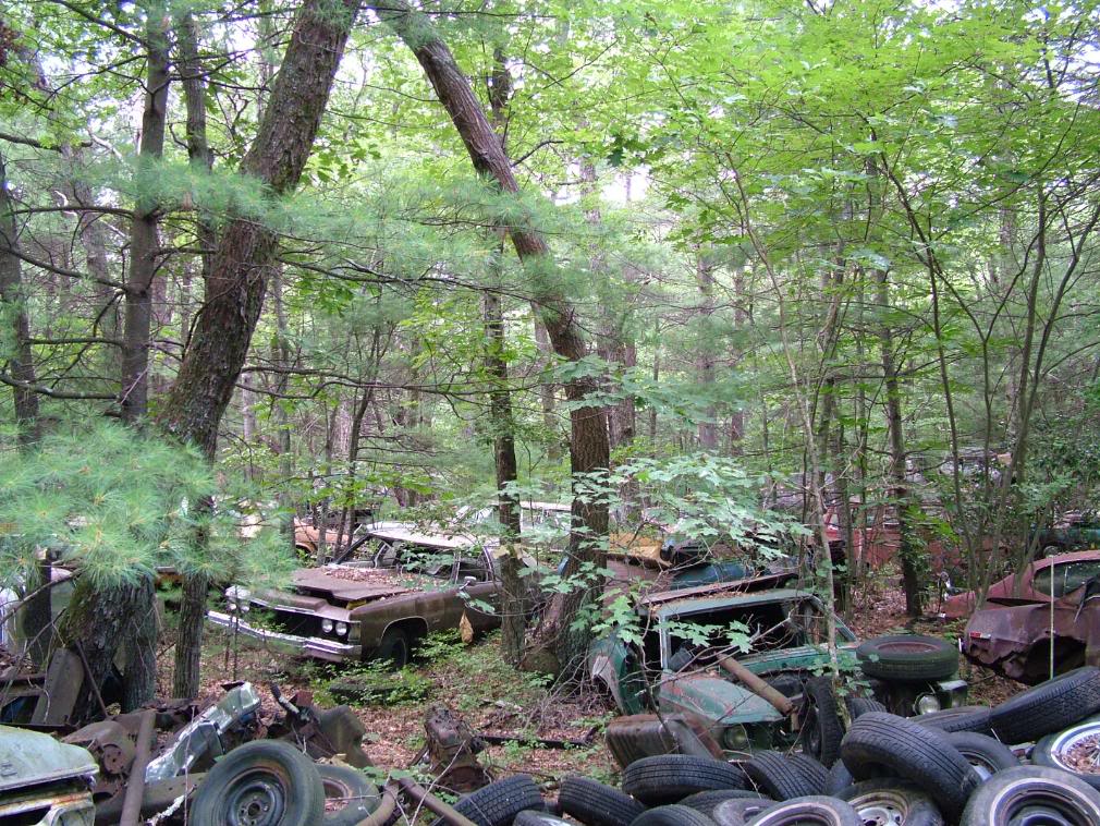
[[[417,640],[458,628],[463,617],[474,633],[501,623],[492,545],[397,522],[376,524],[370,534],[360,558],[299,568],[289,590],[233,586],[226,609],[207,618],[307,656],[397,666],[408,662]]]

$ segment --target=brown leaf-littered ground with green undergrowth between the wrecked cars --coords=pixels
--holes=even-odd
[[[954,639],[963,626],[910,621],[901,591],[888,585],[871,586],[857,595],[848,624],[860,639],[901,631]],[[206,706],[216,702],[224,682],[249,680],[261,687],[268,716],[277,711],[266,687],[273,682],[284,694],[306,689],[314,693],[318,704],[336,705],[338,700],[329,694],[328,685],[337,677],[353,674],[372,687],[371,696],[351,705],[369,732],[364,748],[381,769],[415,771],[425,740],[425,715],[438,705],[458,711],[480,733],[517,738],[491,745],[480,756],[482,764],[496,776],[522,771],[548,786],[573,773],[612,780],[616,767],[604,747],[602,732],[614,711],[606,699],[593,691],[580,695],[548,692],[538,676],[507,666],[497,644],[496,634],[472,645],[464,645],[457,634],[433,638],[421,648],[414,667],[391,673],[370,665],[318,664],[253,641],[239,640],[234,646],[227,634],[211,630],[204,653],[202,673],[207,678],[199,703]],[[170,692],[170,659],[166,655],[162,663],[162,696]],[[1000,703],[1023,688],[965,660],[961,676],[970,682],[971,704]],[[537,738],[586,745],[548,748]]]

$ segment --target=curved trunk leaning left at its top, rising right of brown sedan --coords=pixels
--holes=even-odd
[[[495,181],[504,192],[518,193],[512,163],[484,107],[431,21],[405,0],[371,8],[416,55],[436,96],[451,116],[477,173]],[[587,355],[587,346],[575,308],[553,284],[554,261],[550,247],[530,226],[509,226],[508,233],[531,278],[536,313],[546,325],[554,352],[566,361],[580,361]],[[565,398],[571,406],[570,466],[574,491],[566,577],[578,574],[585,563],[594,563],[602,569],[606,556],[607,500],[604,496],[578,496],[581,489],[606,486],[609,453],[606,416],[603,407],[586,401],[596,390],[598,387],[592,379],[574,378],[565,382]],[[590,633],[583,627],[578,630],[574,621],[600,591],[601,583],[596,580],[553,597],[543,615],[537,656],[529,660],[532,667],[562,673],[581,662]]]

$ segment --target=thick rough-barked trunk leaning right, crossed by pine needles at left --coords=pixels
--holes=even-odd
[[[298,12],[255,141],[241,162],[241,170],[275,196],[298,185],[359,6],[358,0],[306,0]],[[233,219],[224,227],[210,263],[206,303],[158,416],[165,431],[211,459],[277,247],[275,232],[255,220]],[[180,697],[198,693],[207,587],[205,572],[185,574],[173,685]]]

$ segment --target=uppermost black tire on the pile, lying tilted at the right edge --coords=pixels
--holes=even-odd
[[[991,711],[997,738],[1015,745],[1062,731],[1100,711],[1100,669],[1087,665],[1011,697]]]

